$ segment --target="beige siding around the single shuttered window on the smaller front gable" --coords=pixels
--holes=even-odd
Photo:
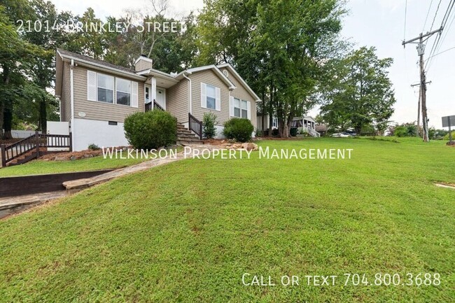
[[[229,89],[223,80],[219,78],[216,73],[207,69],[204,71],[197,71],[189,76],[191,78],[191,90],[192,90],[192,108],[191,111],[193,115],[202,121],[202,116],[204,113],[214,113],[218,120],[218,125],[223,125],[223,123],[229,120]],[[219,87],[221,90],[221,111],[216,111],[214,109],[207,109],[201,107],[201,83],[206,83],[209,85],[214,85]]]

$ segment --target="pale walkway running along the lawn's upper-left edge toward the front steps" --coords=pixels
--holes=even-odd
[[[208,144],[204,145],[192,145],[189,146],[192,150],[213,150],[214,148],[219,148],[219,146],[211,146]],[[102,174],[99,176],[94,176],[92,178],[84,178],[73,181],[66,181],[63,183],[65,190],[59,192],[44,192],[37,195],[24,195],[18,197],[6,197],[0,198],[0,218],[8,216],[13,213],[18,213],[25,209],[29,209],[31,206],[36,206],[43,204],[52,199],[57,199],[59,197],[64,197],[74,192],[78,192],[85,188],[90,188],[93,185],[101,184],[107,181],[110,181],[114,178],[119,178],[121,176],[126,176],[127,174],[136,173],[138,171],[144,171],[146,169],[151,169],[152,167],[158,167],[160,165],[168,164],[171,162],[176,162],[183,160],[185,158],[192,157],[193,154],[184,155],[183,152],[180,152],[173,158],[166,159],[153,159],[139,164],[132,165],[130,167],[125,167],[123,169],[116,169],[115,171],[110,171],[109,173]]]

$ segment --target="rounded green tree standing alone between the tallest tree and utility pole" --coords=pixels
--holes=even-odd
[[[321,87],[321,113],[330,127],[353,127],[358,134],[370,124],[383,130],[393,114],[396,100],[388,78],[393,59],[379,59],[375,51],[363,47],[326,64],[331,80]]]

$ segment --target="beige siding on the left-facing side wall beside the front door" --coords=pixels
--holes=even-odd
[[[166,109],[181,123],[188,122],[188,80],[182,79],[167,89]]]

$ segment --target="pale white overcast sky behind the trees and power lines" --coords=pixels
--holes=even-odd
[[[440,27],[442,17],[450,0],[441,0],[433,29]],[[53,0],[58,10],[71,10],[82,14],[91,6],[97,17],[108,15],[119,16],[125,8],[151,7],[147,0]],[[430,8],[430,2],[432,6]],[[410,85],[419,81],[418,57],[414,44],[403,48],[403,38],[409,40],[422,31],[430,30],[437,10],[434,0],[407,0],[407,21],[405,27],[406,0],[350,0],[347,3],[349,15],[344,17],[342,35],[350,38],[358,47],[367,45],[377,48],[379,57],[392,57],[393,66],[390,78],[395,88],[395,113],[392,120],[396,122],[412,122],[417,118],[417,101],[419,87]],[[202,8],[202,0],[170,0],[170,11],[173,16],[189,13],[190,10]],[[430,8],[430,9],[429,9]],[[428,14],[428,18],[426,17]],[[455,16],[453,14],[452,16]],[[427,106],[429,125],[442,127],[441,117],[455,115],[455,25],[449,27],[454,17],[447,22],[442,34],[439,52],[428,65],[427,80],[432,81],[427,90]],[[425,26],[424,26],[425,25]],[[405,30],[406,29],[406,30]],[[436,35],[428,40],[426,58]],[[450,48],[454,48],[449,50]],[[436,52],[437,53],[437,52]],[[317,109],[309,114],[316,115]]]

